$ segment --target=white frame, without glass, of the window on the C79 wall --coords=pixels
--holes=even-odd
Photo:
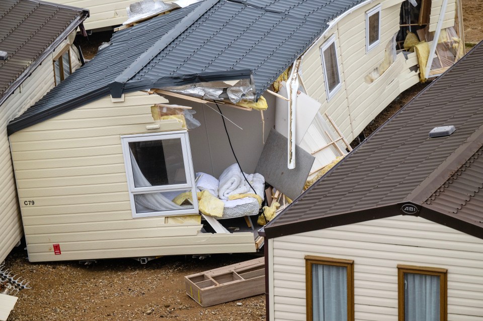
[[[145,142],[154,140],[166,139],[180,139],[181,148],[183,151],[183,161],[185,166],[186,183],[172,184],[172,185],[158,185],[147,187],[135,187],[134,177],[132,174],[132,164],[129,150],[129,143],[131,142]],[[177,216],[177,215],[192,215],[198,213],[198,198],[196,197],[195,175],[193,171],[193,162],[191,159],[191,148],[188,139],[188,131],[163,132],[163,133],[149,133],[121,136],[122,154],[124,156],[124,166],[126,168],[127,184],[129,188],[129,199],[131,201],[131,211],[133,218],[158,217],[158,216]],[[186,191],[190,190],[193,195],[193,208],[188,209],[174,209],[157,212],[137,213],[134,202],[134,195],[146,194],[165,191]]]

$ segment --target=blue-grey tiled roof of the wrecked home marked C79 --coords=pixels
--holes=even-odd
[[[111,47],[14,120],[9,133],[98,99],[108,88],[116,95],[194,82],[196,75],[251,70],[260,96],[330,20],[361,2],[205,0],[155,18],[116,33]]]

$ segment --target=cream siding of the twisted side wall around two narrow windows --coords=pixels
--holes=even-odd
[[[366,15],[382,4],[380,42],[366,53]],[[306,93],[322,105],[348,141],[352,141],[401,91],[418,82],[402,54],[375,81],[368,84],[364,77],[384,59],[384,50],[399,30],[400,1],[373,2],[344,17],[304,55],[301,74]],[[327,101],[320,46],[332,35],[336,37],[342,88]],[[402,89],[404,88],[404,89]],[[402,90],[401,90],[402,89]]]

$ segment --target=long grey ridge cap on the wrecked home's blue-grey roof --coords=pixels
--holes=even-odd
[[[178,38],[189,26],[201,18],[208,10],[213,8],[220,0],[205,0],[192,13],[183,18],[178,25],[171,29],[167,34],[156,41],[148,50],[140,55],[133,63],[129,65],[124,71],[109,84],[111,95],[113,97],[120,97],[124,84],[134,77],[145,65],[147,65],[159,52],[165,49],[170,43]],[[181,27],[180,27],[181,25]]]

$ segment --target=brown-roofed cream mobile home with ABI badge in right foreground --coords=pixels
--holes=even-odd
[[[480,42],[264,227],[267,320],[483,318],[482,75]]]

